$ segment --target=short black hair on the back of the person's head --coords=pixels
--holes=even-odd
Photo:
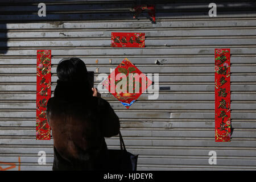
[[[88,72],[84,61],[71,57],[59,62],[57,76],[60,81],[85,81],[88,78]]]

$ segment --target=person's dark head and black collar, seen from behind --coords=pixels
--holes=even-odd
[[[73,101],[92,97],[92,88],[84,61],[77,57],[62,59],[57,65],[57,85],[54,97]]]

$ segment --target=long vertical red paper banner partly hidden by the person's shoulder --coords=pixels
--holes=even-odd
[[[51,139],[47,123],[46,105],[51,98],[51,50],[37,51],[36,64],[36,139]]]

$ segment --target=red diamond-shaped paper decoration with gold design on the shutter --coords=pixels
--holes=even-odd
[[[123,73],[125,77],[118,77],[119,73]],[[131,79],[131,76],[141,76],[139,79]],[[125,81],[124,81],[125,80]],[[123,81],[124,84],[120,86],[121,89],[126,88],[126,93],[117,90],[119,82]],[[110,93],[113,94],[127,109],[137,100],[141,94],[146,91],[152,81],[146,77],[130,60],[125,58],[121,64],[114,69],[112,73],[104,80],[103,85]],[[122,88],[123,87],[123,88]],[[129,88],[131,92],[129,92]],[[132,89],[131,89],[132,88]]]

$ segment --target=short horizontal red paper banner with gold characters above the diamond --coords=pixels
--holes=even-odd
[[[112,32],[112,47],[145,47],[145,33]]]

